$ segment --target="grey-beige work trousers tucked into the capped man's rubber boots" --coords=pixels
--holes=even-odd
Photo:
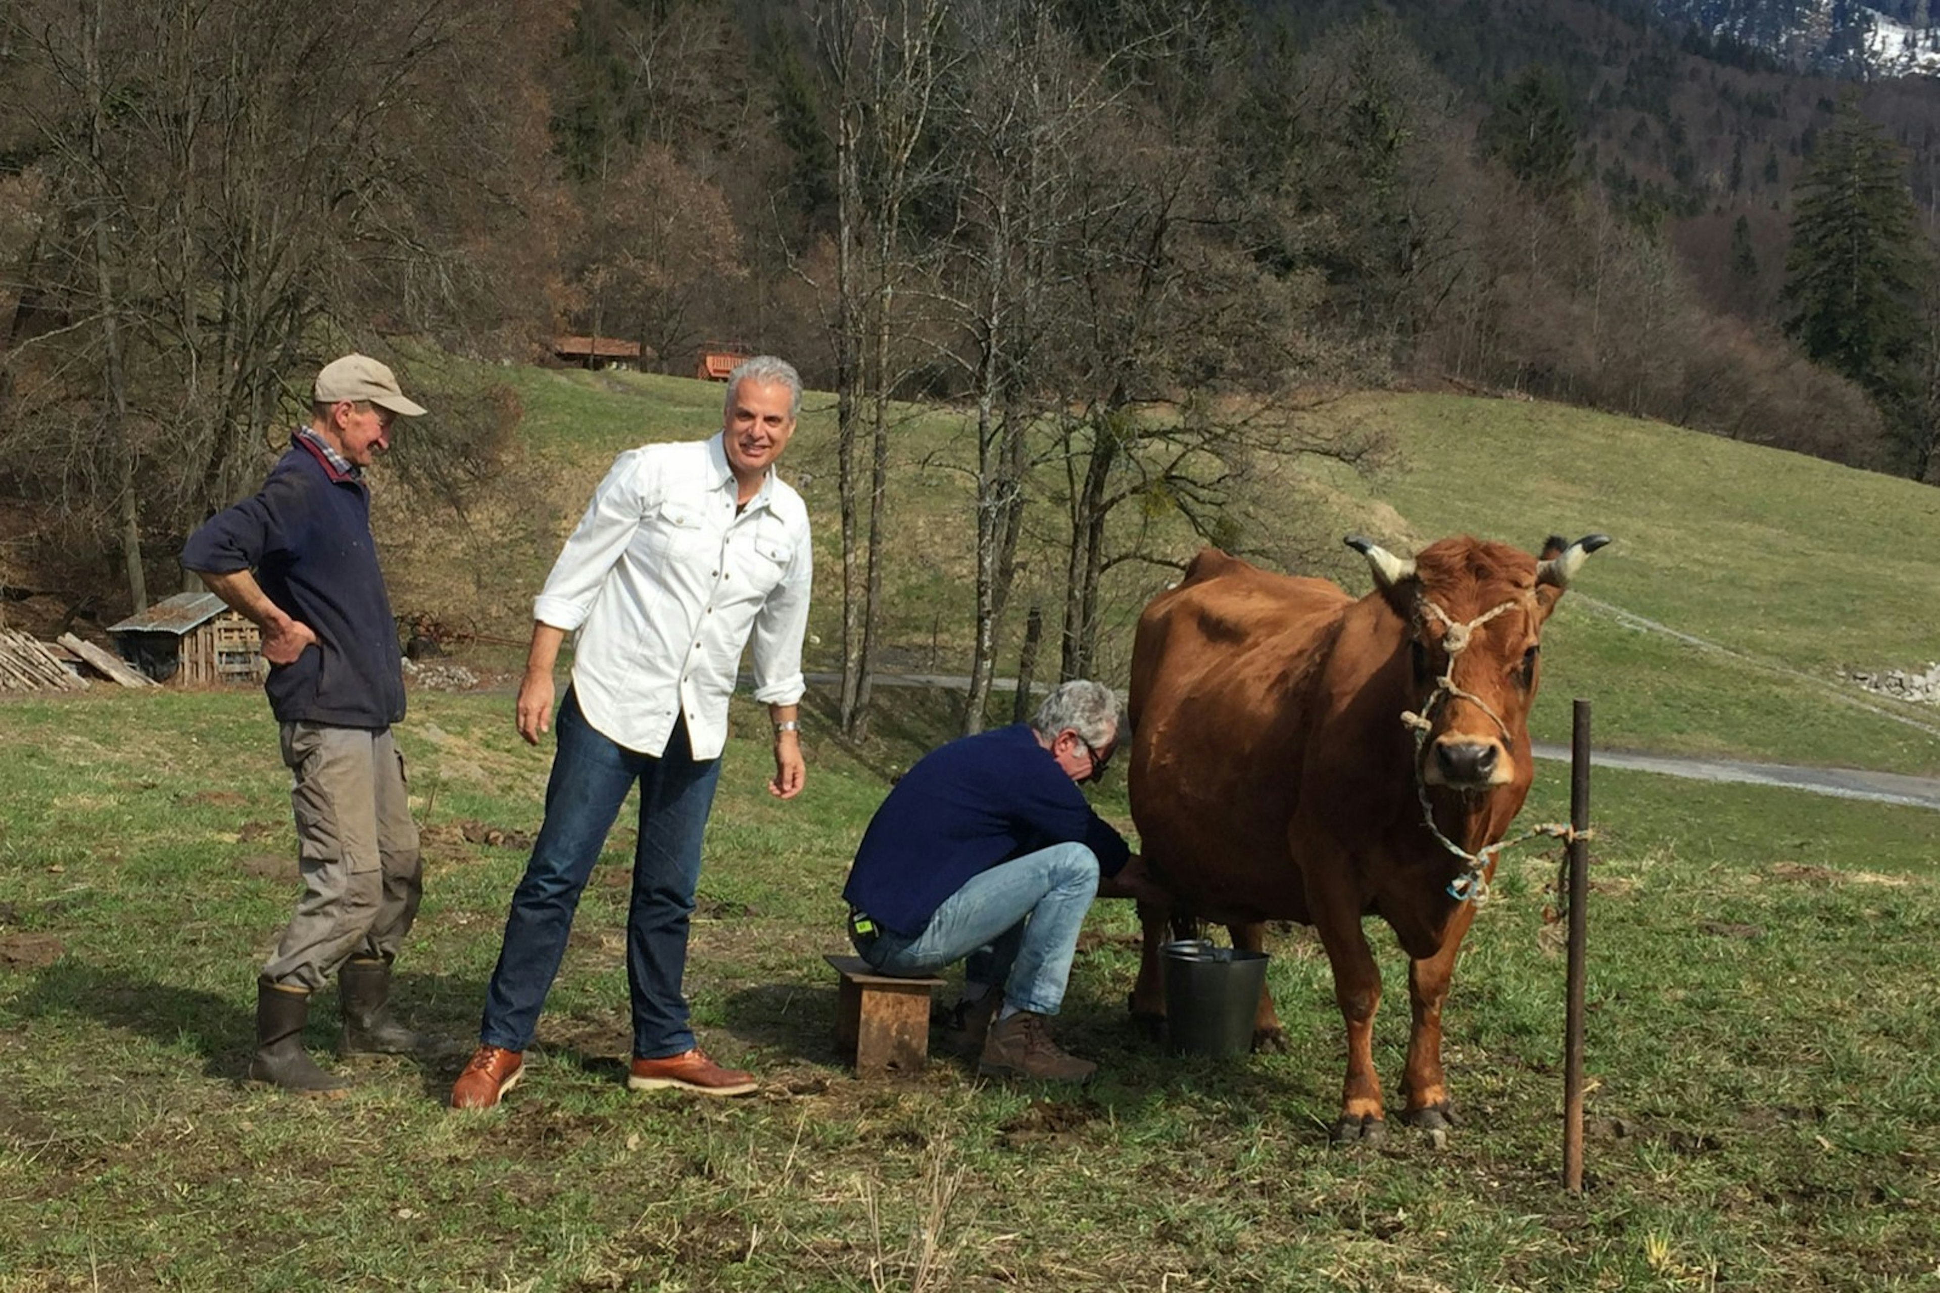
[[[283,724],[303,897],[270,982],[316,990],[353,955],[398,953],[423,889],[404,755],[390,728]]]

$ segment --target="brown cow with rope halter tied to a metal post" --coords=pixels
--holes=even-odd
[[[1381,973],[1362,916],[1410,957],[1414,1025],[1406,1120],[1453,1120],[1441,1074],[1441,1000],[1474,897],[1529,794],[1529,703],[1538,639],[1569,577],[1610,540],[1552,538],[1538,561],[1449,538],[1412,561],[1348,538],[1374,569],[1358,602],[1323,579],[1201,551],[1139,617],[1131,654],[1131,815],[1174,911],[1141,907],[1133,1013],[1164,1015],[1158,944],[1168,916],[1319,930],[1346,1017],[1335,1140],[1383,1130],[1374,1072]],[[1432,806],[1432,819],[1428,813]],[[1261,994],[1255,1044],[1278,1043]]]

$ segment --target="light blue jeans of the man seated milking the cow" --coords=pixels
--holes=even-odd
[[[856,949],[885,975],[929,975],[987,945],[982,980],[1003,984],[1017,1010],[1055,1015],[1096,895],[1098,856],[1084,845],[1051,845],[978,874],[916,938],[883,932]]]

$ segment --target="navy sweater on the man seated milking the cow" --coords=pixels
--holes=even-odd
[[[1131,856],[1036,732],[997,728],[931,749],[902,775],[861,837],[842,897],[914,938],[974,876],[1071,843],[1088,845],[1106,876]]]

